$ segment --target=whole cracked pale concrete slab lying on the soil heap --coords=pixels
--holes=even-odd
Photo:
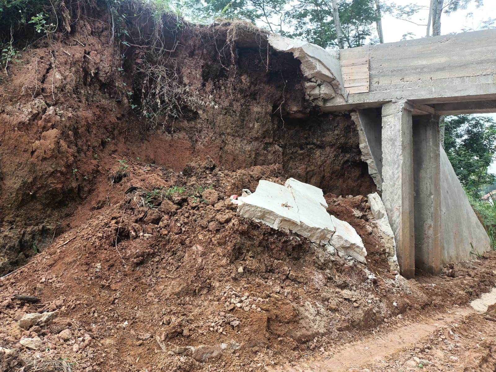
[[[285,186],[261,180],[251,195],[240,197],[238,212],[276,230],[293,231],[311,242],[366,263],[362,239],[347,222],[329,215],[320,188],[293,178]]]

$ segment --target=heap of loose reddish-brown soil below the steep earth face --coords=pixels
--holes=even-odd
[[[203,159],[177,172],[119,158],[72,228],[0,281],[0,346],[19,353],[18,363],[28,363],[31,349],[19,344],[27,338],[40,358],[81,371],[258,371],[387,327],[430,301],[427,285],[388,271],[362,196],[326,199],[364,237],[367,265],[237,215],[229,196],[260,178],[283,183],[278,167],[229,171]],[[437,279],[458,280],[450,301],[439,295],[442,305],[492,284],[487,270],[455,272]],[[26,313],[55,310],[46,324],[20,327]]]

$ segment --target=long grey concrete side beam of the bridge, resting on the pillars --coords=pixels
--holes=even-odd
[[[488,44],[495,39],[496,30],[483,30],[341,50],[341,61],[369,60],[370,90],[349,94],[346,101],[326,99],[322,110],[362,109],[394,100],[496,100],[496,45]]]

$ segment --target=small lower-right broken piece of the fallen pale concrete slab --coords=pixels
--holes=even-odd
[[[365,250],[362,238],[357,234],[355,229],[346,221],[341,221],[334,216],[331,216],[332,223],[336,232],[332,235],[331,246],[341,253],[340,255],[348,255],[355,258],[357,261],[366,263]]]

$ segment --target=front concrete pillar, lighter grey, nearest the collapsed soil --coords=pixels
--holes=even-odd
[[[382,201],[406,278],[415,276],[412,110],[405,101],[382,106]]]

